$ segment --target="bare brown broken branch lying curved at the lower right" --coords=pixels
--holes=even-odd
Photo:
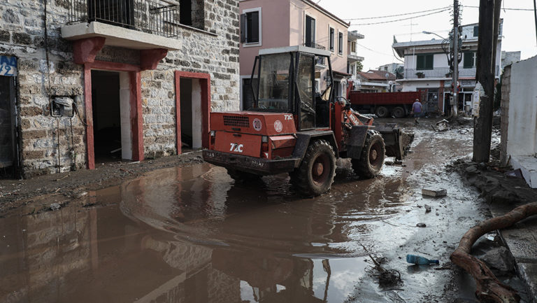
[[[482,221],[464,234],[459,247],[451,254],[451,261],[473,276],[476,284],[475,297],[480,302],[517,303],[520,302],[520,296],[516,290],[496,279],[485,262],[470,254],[473,244],[487,232],[502,230],[534,215],[537,215],[537,202],[518,206],[503,216]]]

